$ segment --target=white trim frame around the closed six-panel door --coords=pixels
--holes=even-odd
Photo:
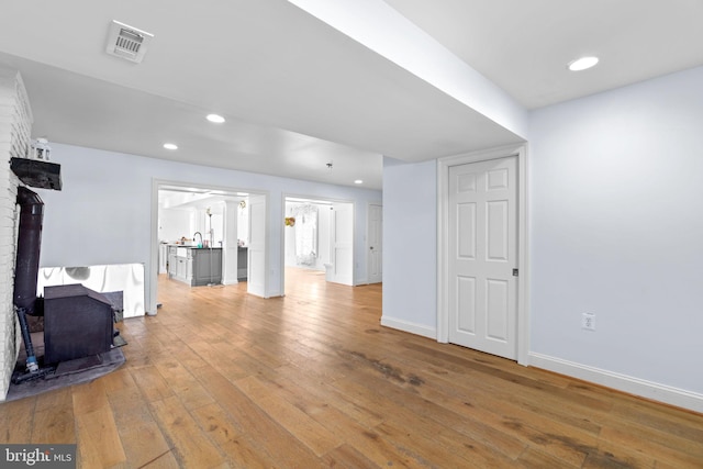
[[[529,365],[527,147],[511,145],[437,159],[437,342],[449,342],[449,168],[515,156],[517,159],[517,362]]]

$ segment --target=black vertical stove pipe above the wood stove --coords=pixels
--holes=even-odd
[[[25,314],[41,315],[41,311],[35,311],[35,303],[44,202],[35,192],[20,186],[18,204],[20,205],[20,228],[14,267],[14,305],[18,311]]]

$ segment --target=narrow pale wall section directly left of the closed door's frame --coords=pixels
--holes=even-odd
[[[436,163],[383,158],[381,324],[427,337],[437,327]]]

